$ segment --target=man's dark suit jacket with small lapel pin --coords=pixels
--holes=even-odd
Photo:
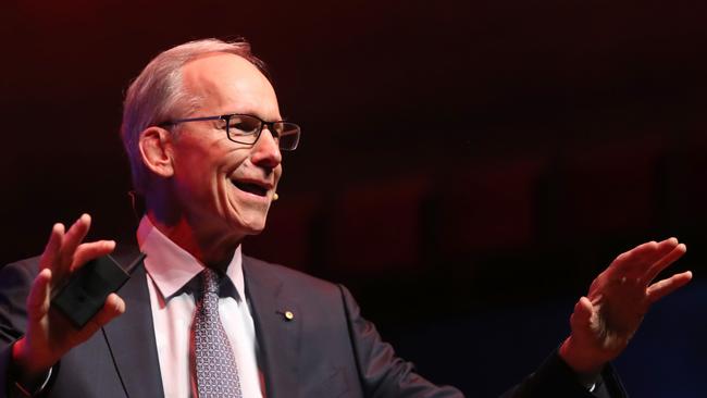
[[[126,264],[136,254],[116,258]],[[9,373],[11,344],[25,331],[24,303],[37,263],[34,258],[0,270],[0,394],[15,389]],[[360,316],[345,287],[249,257],[244,257],[243,266],[268,397],[462,396],[455,388],[433,385],[397,358],[373,324]],[[62,358],[47,396],[164,395],[142,266],[119,295],[126,312]],[[285,311],[294,319],[287,320]],[[624,396],[610,370],[604,377],[612,397]],[[506,396],[593,397],[555,353]]]

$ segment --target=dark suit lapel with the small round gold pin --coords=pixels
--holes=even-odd
[[[295,397],[298,380],[301,312],[283,291],[283,282],[258,260],[244,256],[246,296],[256,323],[260,368],[269,398]],[[294,314],[288,320],[286,312]]]

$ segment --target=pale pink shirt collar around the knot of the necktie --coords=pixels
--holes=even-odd
[[[204,269],[199,260],[162,234],[147,215],[142,216],[137,228],[137,241],[140,251],[147,254],[145,269],[165,300],[179,293]],[[226,276],[235,287],[237,296],[235,299],[244,298],[245,282],[240,245],[233,253],[233,259],[226,269]]]

